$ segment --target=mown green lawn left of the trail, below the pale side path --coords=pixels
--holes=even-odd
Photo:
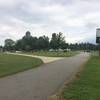
[[[34,68],[42,63],[37,58],[0,54],[0,77]]]

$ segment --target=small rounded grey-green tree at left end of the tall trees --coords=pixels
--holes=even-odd
[[[12,39],[6,39],[4,47],[7,51],[12,51],[15,48],[15,42]]]

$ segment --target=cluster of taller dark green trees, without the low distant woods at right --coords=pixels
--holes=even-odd
[[[37,51],[37,50],[49,50],[49,49],[66,49],[67,43],[65,37],[60,32],[58,34],[53,33],[51,40],[48,36],[33,37],[29,31],[25,33],[22,39],[14,41],[12,39],[6,39],[4,49],[7,51],[21,50],[21,51]]]

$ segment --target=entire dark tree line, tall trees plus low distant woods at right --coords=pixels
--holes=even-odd
[[[14,41],[6,39],[3,47],[5,51],[38,51],[38,50],[97,50],[97,46],[91,43],[68,44],[63,33],[53,33],[51,39],[48,36],[33,37],[29,31],[21,39]]]

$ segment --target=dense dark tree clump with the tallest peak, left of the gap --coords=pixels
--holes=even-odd
[[[16,50],[47,50],[49,48],[49,38],[47,36],[32,37],[29,31],[22,39],[16,42]]]

